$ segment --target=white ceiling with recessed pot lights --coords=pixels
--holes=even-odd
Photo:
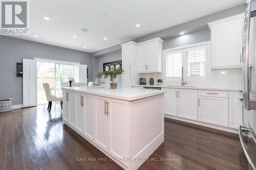
[[[15,37],[92,53],[242,3],[245,0],[33,0],[30,36]]]

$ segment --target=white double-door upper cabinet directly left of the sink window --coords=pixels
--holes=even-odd
[[[137,72],[162,72],[161,38],[138,43]]]

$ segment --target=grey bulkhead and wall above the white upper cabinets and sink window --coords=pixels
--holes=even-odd
[[[210,30],[208,29],[208,22],[226,18],[232,15],[241,14],[245,11],[245,4],[229,8],[214,14],[210,14],[201,18],[197,18],[180,25],[167,28],[143,37],[133,39],[135,42],[142,42],[152,38],[160,37],[163,41],[163,50],[173,47],[178,47],[182,45],[188,45],[198,42],[204,42],[210,40]],[[164,18],[160,18],[164,19]],[[179,36],[180,32],[184,32],[185,35]],[[112,51],[117,51],[121,49],[121,45],[114,45],[103,50],[92,53],[92,67],[95,68],[98,66],[99,56],[104,56],[106,54],[111,54]],[[114,57],[114,56],[113,56]],[[111,61],[111,56],[108,55],[108,59]],[[101,59],[102,60],[102,59]],[[98,69],[92,70],[93,79],[96,78]]]

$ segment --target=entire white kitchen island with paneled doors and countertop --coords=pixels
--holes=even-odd
[[[124,169],[137,169],[164,141],[165,90],[62,89],[63,124]]]

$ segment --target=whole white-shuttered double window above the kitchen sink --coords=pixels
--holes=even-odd
[[[179,80],[182,76],[182,67],[184,77],[191,77],[191,79],[206,77],[207,44],[204,42],[175,48],[175,50],[164,50],[165,78]]]

